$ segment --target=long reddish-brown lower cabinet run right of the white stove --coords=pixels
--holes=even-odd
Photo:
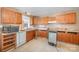
[[[79,33],[58,32],[57,39],[66,43],[79,44]]]

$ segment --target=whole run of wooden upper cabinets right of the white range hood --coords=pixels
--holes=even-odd
[[[66,13],[56,16],[56,23],[67,23],[74,24],[76,23],[76,13]]]

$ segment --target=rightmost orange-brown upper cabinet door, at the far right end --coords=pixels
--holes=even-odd
[[[76,23],[76,13],[65,14],[66,23]]]

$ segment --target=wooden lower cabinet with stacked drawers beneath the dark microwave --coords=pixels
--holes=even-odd
[[[16,34],[1,35],[0,51],[8,51],[12,48],[16,48]]]

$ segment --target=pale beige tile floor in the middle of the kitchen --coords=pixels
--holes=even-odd
[[[38,38],[10,51],[10,52],[68,52],[63,48],[51,46],[46,38]]]

